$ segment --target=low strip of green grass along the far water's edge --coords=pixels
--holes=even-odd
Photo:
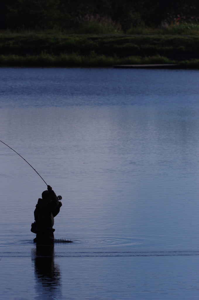
[[[124,58],[104,55],[82,56],[77,54],[54,56],[41,55],[0,55],[0,66],[20,67],[111,67],[114,64],[182,64],[187,68],[199,68],[199,59],[174,61],[159,55],[153,57],[129,56]]]

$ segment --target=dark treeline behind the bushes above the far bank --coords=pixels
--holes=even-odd
[[[0,29],[70,30],[85,22],[109,23],[124,33],[138,26],[196,22],[197,0],[0,0]]]

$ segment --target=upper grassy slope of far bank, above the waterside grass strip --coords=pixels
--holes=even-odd
[[[199,36],[44,33],[0,35],[0,55],[18,55],[19,60],[28,61],[28,55],[37,56],[37,60],[43,60],[42,53],[50,55],[50,61],[55,60],[53,57],[57,57],[57,60],[61,59],[61,55],[73,57],[73,53],[80,56],[82,61],[88,61],[88,57],[91,61],[98,60],[96,57],[100,57],[101,60],[102,57],[106,57],[106,60],[112,57],[112,60],[116,60],[115,57],[126,59],[132,56],[144,58],[158,55],[170,60],[184,61],[199,59]],[[48,58],[45,59],[48,60]],[[62,58],[61,61],[64,59]],[[15,58],[15,60],[17,59]],[[78,59],[76,58],[76,60]]]

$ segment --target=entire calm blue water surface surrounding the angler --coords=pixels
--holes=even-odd
[[[1,299],[198,299],[199,71],[0,68]]]

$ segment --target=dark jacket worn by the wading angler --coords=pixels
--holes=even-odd
[[[34,219],[37,222],[37,232],[45,232],[46,230],[55,229],[52,228],[54,225],[54,217],[59,213],[59,201],[54,191],[50,191],[51,201],[46,202],[43,199],[38,199],[36,208],[34,210]]]

